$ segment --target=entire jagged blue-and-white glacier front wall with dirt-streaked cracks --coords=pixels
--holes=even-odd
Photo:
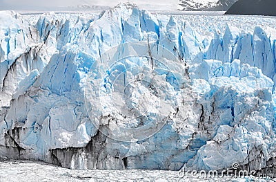
[[[74,169],[273,165],[274,29],[226,26],[206,44],[189,22],[127,4],[76,22],[0,14],[13,22],[0,32],[0,158]],[[152,135],[125,132],[160,121]]]

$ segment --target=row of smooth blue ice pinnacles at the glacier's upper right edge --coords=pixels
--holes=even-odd
[[[239,29],[228,25],[224,35],[215,33],[204,58],[222,62],[240,60],[242,64],[261,69],[275,82],[275,39],[271,35],[273,32],[268,33],[261,27],[256,27],[253,33],[241,33]]]

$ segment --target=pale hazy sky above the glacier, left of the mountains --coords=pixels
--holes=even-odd
[[[79,5],[116,6],[118,3],[132,2],[139,8],[157,10],[177,9],[177,0],[0,0],[0,10],[56,10]]]

